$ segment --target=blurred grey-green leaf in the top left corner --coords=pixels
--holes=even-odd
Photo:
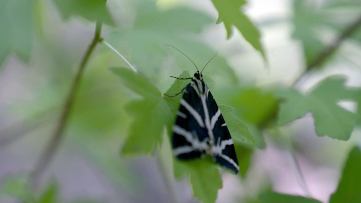
[[[0,65],[15,53],[28,62],[33,48],[34,0],[4,0],[0,7]]]

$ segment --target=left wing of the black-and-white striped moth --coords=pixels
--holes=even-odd
[[[191,110],[190,112],[190,107],[194,111]],[[198,119],[195,117],[198,117]],[[207,129],[202,127],[202,122],[199,122],[199,118],[204,123],[205,115],[202,101],[191,85],[188,84],[183,93],[181,105],[179,105],[177,118],[173,126],[173,153],[179,159],[193,159],[205,155],[203,149],[192,146],[192,142],[195,139],[202,142],[205,138],[209,137]]]

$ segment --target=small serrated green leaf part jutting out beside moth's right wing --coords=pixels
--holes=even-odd
[[[245,143],[248,145],[254,145],[254,139],[251,133],[248,131],[247,126],[242,120],[234,116],[234,109],[230,106],[218,105],[220,112],[226,121],[229,132],[231,133],[233,141],[238,143]]]

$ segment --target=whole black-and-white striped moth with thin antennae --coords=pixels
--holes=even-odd
[[[192,60],[191,62],[193,63]],[[204,68],[199,72],[197,66],[194,66],[197,72],[192,78],[177,78],[191,79],[191,82],[183,89],[183,97],[172,128],[173,154],[184,160],[208,154],[220,166],[237,174],[237,156],[225,119],[203,80]]]

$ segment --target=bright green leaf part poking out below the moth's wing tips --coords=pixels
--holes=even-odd
[[[173,159],[176,179],[189,177],[194,197],[202,202],[214,202],[218,190],[222,188],[222,179],[212,161],[206,158],[181,161]]]

